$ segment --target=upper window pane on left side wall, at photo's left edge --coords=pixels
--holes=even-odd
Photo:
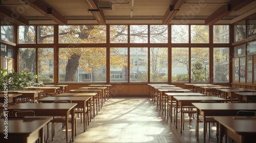
[[[1,25],[1,40],[14,42],[14,26]]]

